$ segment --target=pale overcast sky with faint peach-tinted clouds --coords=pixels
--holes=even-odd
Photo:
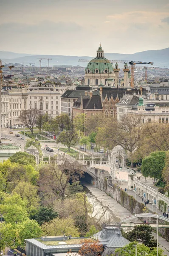
[[[0,50],[95,56],[169,47],[169,0],[0,0]]]

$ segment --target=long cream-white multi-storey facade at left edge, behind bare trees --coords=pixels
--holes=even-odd
[[[29,87],[2,90],[1,127],[19,125],[23,110],[37,108],[52,118],[61,113],[61,96],[67,88]]]

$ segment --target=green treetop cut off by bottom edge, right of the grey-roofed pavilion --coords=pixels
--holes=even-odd
[[[117,256],[135,256],[135,242],[125,245],[122,248],[115,250]],[[157,255],[157,248],[149,248],[144,244],[137,242],[137,256],[155,256]],[[163,250],[158,248],[158,256],[163,256]]]

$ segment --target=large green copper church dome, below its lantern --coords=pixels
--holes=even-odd
[[[113,73],[113,66],[107,58],[94,58],[86,67],[86,73]]]

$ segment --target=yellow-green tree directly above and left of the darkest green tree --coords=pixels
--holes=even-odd
[[[17,184],[13,193],[20,195],[22,199],[27,201],[26,209],[28,214],[36,212],[39,207],[39,196],[37,195],[37,186],[31,185],[28,182],[20,182]]]

